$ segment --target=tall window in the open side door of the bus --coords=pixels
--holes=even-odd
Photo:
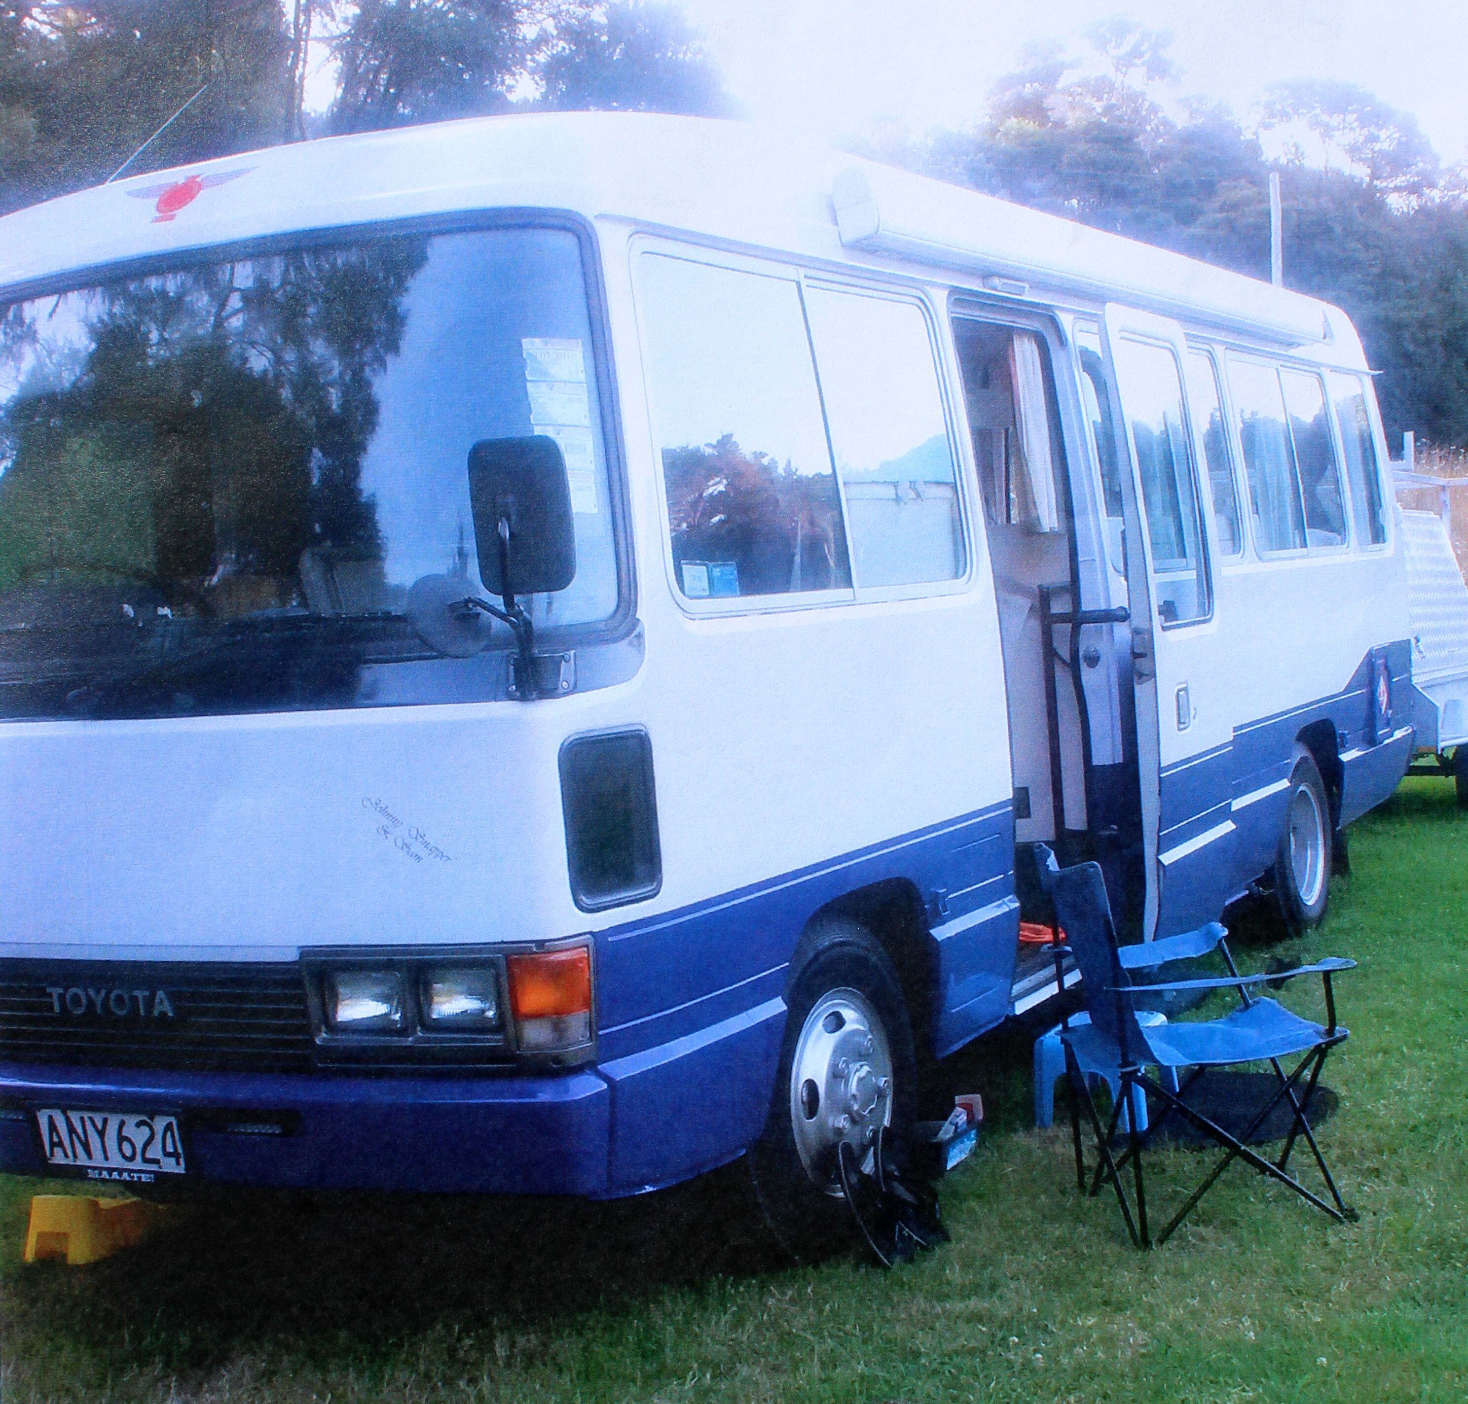
[[[1119,342],[1116,358],[1142,481],[1157,610],[1167,624],[1201,619],[1208,613],[1208,579],[1177,361],[1169,348],[1130,337]]]

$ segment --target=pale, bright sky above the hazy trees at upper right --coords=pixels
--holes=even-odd
[[[1289,78],[1361,84],[1411,111],[1443,160],[1468,158],[1465,0],[678,0],[753,119],[822,139],[894,123],[966,126],[1025,44],[1078,51],[1124,13],[1173,35],[1167,94],[1221,101],[1246,125]]]

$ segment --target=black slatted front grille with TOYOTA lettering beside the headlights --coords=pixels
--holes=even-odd
[[[297,965],[0,961],[0,1062],[301,1072]]]

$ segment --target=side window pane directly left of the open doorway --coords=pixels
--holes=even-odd
[[[959,487],[922,310],[806,295],[857,587],[963,574]]]

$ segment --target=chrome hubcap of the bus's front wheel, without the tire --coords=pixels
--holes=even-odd
[[[865,1158],[893,1119],[893,1050],[859,990],[829,990],[800,1028],[790,1068],[790,1124],[800,1163],[826,1194],[841,1193],[835,1149]]]

